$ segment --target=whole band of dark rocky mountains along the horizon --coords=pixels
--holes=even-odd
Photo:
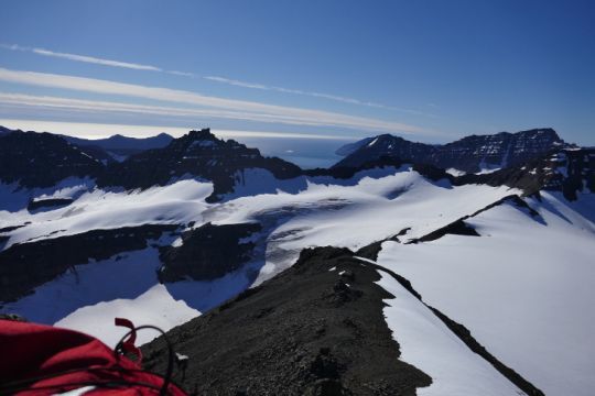
[[[266,169],[281,180],[300,175],[349,178],[360,169],[408,163],[433,178],[453,178],[468,172],[468,176],[456,178],[454,183],[458,184],[480,180],[508,186],[534,184],[533,189],[562,188],[542,173],[520,177],[523,170],[519,165],[561,150],[570,151],[567,155],[572,156],[572,152],[578,150],[561,140],[552,129],[473,135],[444,145],[414,143],[383,134],[339,147],[337,153],[346,157],[328,169],[303,170],[281,158],[264,157],[257,148],[248,148],[234,140],[219,140],[208,129],[191,131],[178,139],[167,134],[147,139],[115,135],[99,141],[46,132],[2,131],[0,180],[4,183],[19,182],[29,188],[48,187],[66,177],[87,176],[99,187],[133,189],[164,186],[193,176],[213,182],[209,200],[231,193],[241,182],[245,169]],[[112,160],[115,152],[120,153],[119,161]]]

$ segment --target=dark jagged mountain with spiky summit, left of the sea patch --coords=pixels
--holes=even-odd
[[[214,191],[208,200],[216,201],[219,195],[232,191],[246,168],[264,168],[277,178],[301,174],[296,165],[263,157],[257,148],[248,148],[234,140],[219,140],[204,129],[191,131],[164,148],[149,150],[109,166],[98,185],[149,188],[192,175],[213,182]]]

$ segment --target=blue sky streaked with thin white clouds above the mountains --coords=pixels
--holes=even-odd
[[[595,145],[592,1],[4,1],[0,123]]]

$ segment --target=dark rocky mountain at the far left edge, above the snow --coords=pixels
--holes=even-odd
[[[97,158],[51,133],[12,131],[0,134],[0,182],[50,187],[71,177],[97,177]]]

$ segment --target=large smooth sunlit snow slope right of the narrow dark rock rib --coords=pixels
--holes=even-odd
[[[482,237],[420,244],[385,242],[378,264],[408,278],[479,343],[547,395],[595,387],[595,227],[558,194],[528,199],[541,218],[511,205],[466,220]]]

